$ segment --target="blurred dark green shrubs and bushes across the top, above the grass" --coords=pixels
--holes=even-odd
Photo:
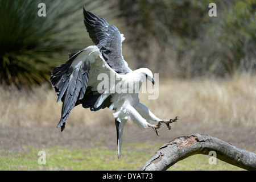
[[[46,4],[46,17],[38,4]],[[209,3],[217,17],[210,17]],[[125,34],[130,67],[161,77],[225,77],[256,68],[256,1],[0,0],[0,84],[48,82],[68,52],[92,45],[82,7]]]

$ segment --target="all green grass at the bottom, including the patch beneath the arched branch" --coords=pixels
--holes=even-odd
[[[156,146],[124,144],[121,158],[117,159],[117,151],[100,145],[96,148],[55,146],[40,149],[46,152],[46,165],[40,165],[40,150],[30,146],[25,153],[0,151],[0,170],[138,170],[151,158],[151,148]],[[191,156],[169,170],[241,170],[221,160],[217,160],[216,165],[210,165],[208,159],[209,156],[205,155]]]

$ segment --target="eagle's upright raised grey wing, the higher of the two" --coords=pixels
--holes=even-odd
[[[123,60],[122,41],[125,40],[117,27],[109,25],[105,19],[84,9],[84,24],[90,38],[100,49],[106,63],[119,74],[131,72],[128,64]]]

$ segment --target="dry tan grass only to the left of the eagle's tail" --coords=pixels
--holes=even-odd
[[[2,88],[0,93],[0,126],[57,126],[62,102],[56,103],[56,93],[48,85],[37,86],[30,93]],[[108,115],[111,116],[108,110],[99,113],[92,113],[81,106],[75,107],[68,119],[69,125],[84,123],[86,126],[92,122],[98,123],[100,118],[107,121]]]

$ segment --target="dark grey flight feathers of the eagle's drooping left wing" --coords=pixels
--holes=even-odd
[[[67,121],[71,110],[78,104],[77,100],[84,98],[88,85],[89,61],[85,61],[84,65],[80,67],[72,67],[72,61],[80,52],[73,55],[66,63],[53,69],[50,78],[50,82],[59,96],[57,102],[63,101],[61,118],[57,125],[57,127],[61,127],[61,131],[64,130],[65,121]]]

